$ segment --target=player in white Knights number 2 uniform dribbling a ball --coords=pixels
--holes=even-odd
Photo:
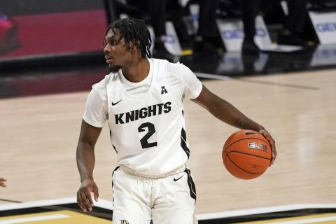
[[[111,73],[87,97],[76,156],[81,182],[77,202],[86,212],[94,206],[91,193],[98,201],[94,145],[107,121],[118,157],[112,174],[113,223],[197,223],[195,184],[186,167],[190,150],[183,101],[192,99],[229,125],[264,134],[272,146],[272,163],[274,140],[204,87],[188,67],[151,58],[150,47],[142,20],[117,20],[106,31],[104,53]]]

